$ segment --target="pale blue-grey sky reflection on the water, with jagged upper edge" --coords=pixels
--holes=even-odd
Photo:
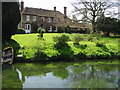
[[[46,76],[25,76],[24,88],[64,88],[66,80],[62,80],[60,77],[53,76],[53,73],[47,73]]]

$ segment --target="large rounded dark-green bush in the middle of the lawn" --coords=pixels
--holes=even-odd
[[[62,34],[62,35],[53,37],[53,40],[54,40],[54,42],[56,42],[56,44],[55,44],[56,47],[61,48],[61,47],[68,46],[68,44],[66,42],[68,42],[70,40],[70,38],[66,34]]]

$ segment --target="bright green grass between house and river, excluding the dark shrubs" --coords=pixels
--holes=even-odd
[[[60,35],[61,33],[45,33],[44,40],[38,40],[38,34],[16,34],[12,36],[12,39],[17,41],[21,47],[24,49],[20,50],[20,54],[25,54],[25,59],[35,58],[35,53],[39,49],[40,52],[44,53],[47,59],[55,59],[57,56],[64,57],[72,57],[77,56],[77,59],[81,58],[80,53],[85,54],[84,58],[81,59],[92,59],[97,58],[112,58],[118,57],[118,39],[119,38],[110,38],[110,37],[100,37],[100,40],[106,42],[106,47],[108,51],[103,50],[101,47],[97,47],[96,43],[90,41],[80,41],[80,45],[87,45],[85,49],[80,48],[80,45],[75,46],[73,41],[67,42],[70,48],[57,50],[54,47],[55,42],[53,41],[53,37]],[[76,34],[67,34],[71,39]],[[86,37],[88,35],[83,35]],[[24,53],[23,53],[24,52]],[[112,55],[112,54],[113,55]],[[65,56],[64,56],[65,55]],[[46,58],[45,58],[46,59]],[[72,59],[72,58],[71,58]]]

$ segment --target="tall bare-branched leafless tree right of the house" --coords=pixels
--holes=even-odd
[[[72,4],[75,8],[74,12],[78,15],[82,15],[82,21],[86,21],[92,24],[93,32],[96,31],[96,19],[100,17],[105,11],[113,6],[110,0],[77,0]]]

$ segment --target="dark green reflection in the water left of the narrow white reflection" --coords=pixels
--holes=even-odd
[[[22,88],[22,82],[13,65],[2,66],[2,88]]]

